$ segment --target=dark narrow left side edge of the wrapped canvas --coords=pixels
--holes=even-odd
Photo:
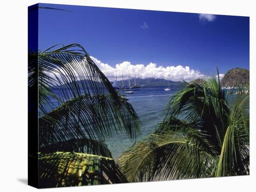
[[[38,188],[38,78],[31,82],[31,53],[38,54],[38,4],[28,7],[28,185]],[[38,65],[33,67],[38,77]]]

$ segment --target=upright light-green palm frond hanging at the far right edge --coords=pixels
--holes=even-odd
[[[231,106],[230,125],[212,174],[217,177],[249,174],[249,94],[242,89]]]

